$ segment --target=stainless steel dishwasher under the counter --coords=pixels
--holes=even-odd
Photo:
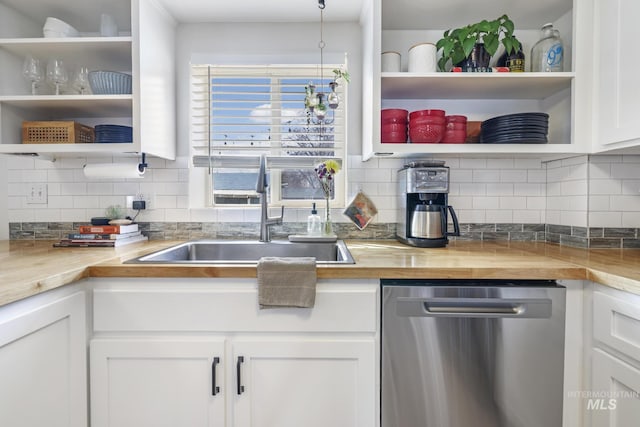
[[[562,426],[564,287],[381,285],[382,427]]]

